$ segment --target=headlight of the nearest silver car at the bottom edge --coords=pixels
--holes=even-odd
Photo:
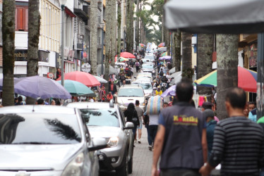
[[[73,161],[71,161],[71,163],[68,163],[61,176],[80,175],[81,171],[83,170],[83,163],[84,163],[84,154],[79,153],[78,156],[76,156],[76,158],[74,158]]]

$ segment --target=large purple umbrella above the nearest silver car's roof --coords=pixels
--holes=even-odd
[[[20,77],[14,82],[14,92],[24,96],[30,96],[33,99],[71,99],[71,94],[52,79],[47,77],[32,76]]]

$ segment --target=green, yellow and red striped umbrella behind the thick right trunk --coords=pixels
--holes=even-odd
[[[257,73],[246,68],[237,68],[238,70],[238,87],[241,87],[247,92],[257,92]],[[217,70],[208,73],[194,83],[198,86],[217,87]]]

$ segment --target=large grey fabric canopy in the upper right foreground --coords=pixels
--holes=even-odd
[[[164,16],[169,30],[194,34],[264,32],[263,0],[171,0],[164,5]]]

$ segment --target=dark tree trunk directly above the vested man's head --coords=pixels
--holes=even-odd
[[[182,77],[192,79],[193,68],[191,68],[191,37],[192,34],[182,32]]]

